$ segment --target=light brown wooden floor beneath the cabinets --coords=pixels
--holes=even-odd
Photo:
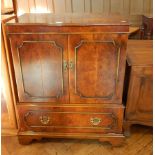
[[[152,155],[151,127],[133,126],[121,147],[94,140],[42,140],[20,145],[17,137],[2,137],[2,155]]]

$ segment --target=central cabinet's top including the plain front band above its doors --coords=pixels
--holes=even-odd
[[[104,14],[24,14],[8,22],[8,33],[103,33],[128,32],[121,16]],[[26,27],[25,27],[26,26]]]

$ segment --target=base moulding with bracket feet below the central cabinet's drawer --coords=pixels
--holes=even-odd
[[[100,142],[109,142],[112,146],[121,146],[125,140],[123,134],[88,134],[88,133],[19,133],[18,140],[22,145],[28,145],[33,140],[40,141],[42,138],[69,138],[69,139],[94,139]]]

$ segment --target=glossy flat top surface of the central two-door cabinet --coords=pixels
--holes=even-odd
[[[7,22],[7,25],[51,25],[51,26],[89,26],[89,25],[129,25],[119,15],[88,14],[88,13],[28,13]]]

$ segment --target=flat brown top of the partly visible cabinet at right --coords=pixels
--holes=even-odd
[[[153,64],[152,40],[128,40],[127,62],[130,66]]]

